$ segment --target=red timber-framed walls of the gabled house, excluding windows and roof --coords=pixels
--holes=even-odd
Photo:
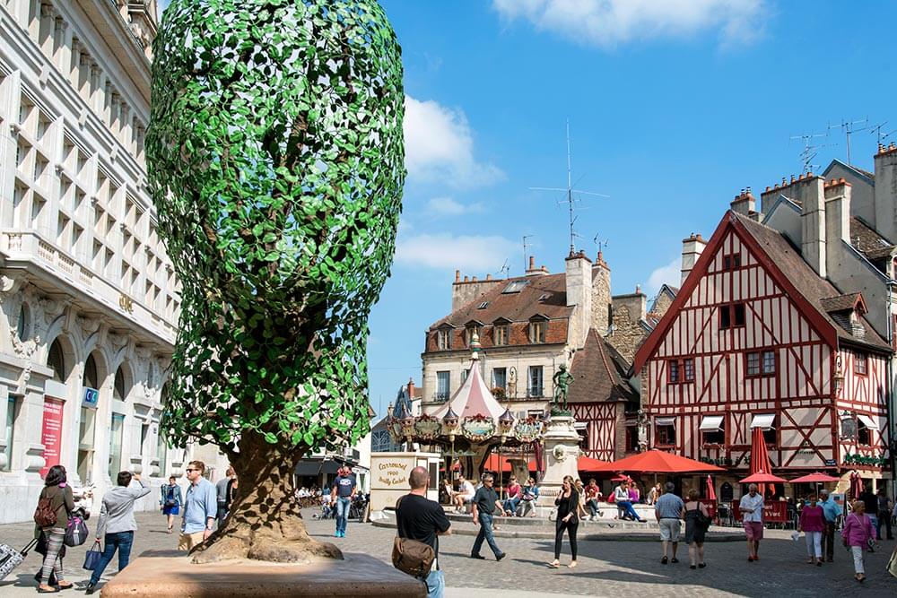
[[[658,426],[672,420],[675,452],[745,469],[751,423],[765,414],[774,422],[767,443],[777,469],[834,469],[847,454],[881,455],[886,446],[884,355],[844,347],[835,325],[788,280],[767,246],[739,218],[727,212],[635,356],[633,367],[641,374],[641,400],[651,422],[649,445],[658,445]],[[743,321],[739,317],[736,323],[731,316],[734,306],[739,313],[744,310]],[[721,317],[723,310],[729,316]],[[764,368],[766,351],[774,353],[774,360]],[[863,369],[862,363],[854,366],[859,351],[867,358],[866,374],[855,372]],[[752,360],[749,375],[746,355],[753,352],[760,353],[760,371]],[[682,381],[671,383],[670,364],[686,359],[694,361],[693,381],[680,373]],[[837,397],[832,384],[836,371],[844,376]],[[845,412],[875,422],[867,445],[840,441]],[[701,422],[709,416],[722,418],[721,434],[711,438],[724,442],[705,444]]]

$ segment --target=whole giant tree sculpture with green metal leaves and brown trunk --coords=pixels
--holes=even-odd
[[[374,0],[174,0],[153,55],[149,186],[182,299],[163,426],[239,474],[194,560],[340,558],[292,472],[369,428],[405,180],[395,32]]]

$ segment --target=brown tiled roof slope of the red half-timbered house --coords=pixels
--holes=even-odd
[[[824,299],[836,298],[842,295],[840,290],[815,273],[810,264],[807,264],[800,252],[795,249],[788,239],[777,230],[755,222],[746,216],[731,212],[750,235],[760,244],[767,256],[775,263],[797,291],[834,327],[840,339],[849,342],[858,342],[876,349],[890,351],[891,347],[884,342],[881,336],[875,333],[875,329],[863,319],[863,335],[850,334],[823,305]]]

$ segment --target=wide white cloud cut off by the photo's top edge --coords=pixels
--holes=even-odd
[[[636,39],[686,39],[717,30],[721,46],[751,42],[769,18],[766,0],[492,0],[509,20],[613,48]]]

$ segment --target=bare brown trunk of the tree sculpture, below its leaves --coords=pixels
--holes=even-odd
[[[237,496],[221,529],[192,550],[193,562],[256,559],[280,563],[342,559],[330,542],[309,536],[292,494],[292,473],[307,447],[286,451],[247,431],[239,442]]]

